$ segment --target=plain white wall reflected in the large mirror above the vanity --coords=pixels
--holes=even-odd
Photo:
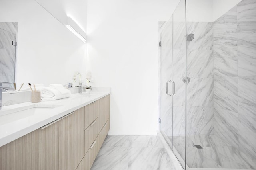
[[[86,44],[34,0],[1,0],[0,22],[18,22],[16,83],[72,82],[86,74]]]

